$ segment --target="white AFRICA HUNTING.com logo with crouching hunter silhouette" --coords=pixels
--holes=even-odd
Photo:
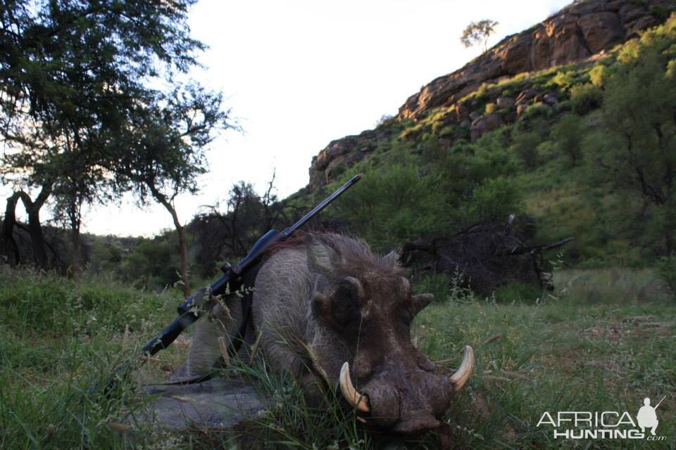
[[[542,414],[538,427],[551,425],[554,439],[646,439],[664,441],[665,436],[656,435],[660,421],[656,409],[666,398],[651,406],[650,399],[643,401],[643,406],[634,417],[627,411],[558,411]]]

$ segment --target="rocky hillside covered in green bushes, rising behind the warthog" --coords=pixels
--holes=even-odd
[[[306,192],[365,172],[336,219],[382,248],[515,213],[536,242],[574,236],[568,264],[654,264],[675,250],[671,232],[660,231],[672,223],[661,208],[672,201],[671,188],[649,179],[655,191],[669,192],[651,197],[634,174],[620,174],[627,167],[615,162],[624,157],[609,146],[621,127],[613,139],[604,136],[631,117],[631,102],[646,106],[656,96],[646,115],[664,122],[657,137],[637,134],[649,148],[641,176],[666,171],[661,179],[671,179],[674,124],[668,111],[658,112],[658,90],[673,85],[674,9],[658,0],[575,2],[434,79],[396,117],[332,141],[313,158]],[[641,67],[652,72],[641,75]],[[651,77],[638,83],[644,97],[634,89],[633,99],[620,98],[630,95],[617,86],[622,77]],[[634,125],[641,131],[643,124]],[[396,200],[385,195],[392,192]]]

